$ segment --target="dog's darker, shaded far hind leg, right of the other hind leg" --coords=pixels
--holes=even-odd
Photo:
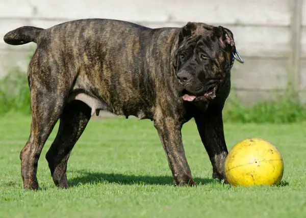
[[[91,108],[82,101],[66,104],[60,117],[57,136],[46,154],[50,172],[56,186],[67,188],[67,162],[74,144],[78,141],[91,117]]]

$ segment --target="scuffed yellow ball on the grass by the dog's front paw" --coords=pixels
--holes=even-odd
[[[225,176],[233,186],[277,185],[283,174],[281,153],[262,139],[237,143],[225,159]]]

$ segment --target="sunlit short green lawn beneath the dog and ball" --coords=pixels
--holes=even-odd
[[[306,123],[225,123],[231,149],[247,137],[273,143],[283,154],[283,185],[231,187],[211,178],[208,155],[195,124],[183,127],[183,141],[197,187],[174,187],[151,121],[92,120],[68,162],[70,188],[58,189],[45,153],[38,164],[41,190],[24,191],[19,152],[29,137],[31,118],[0,119],[0,217],[305,217]]]

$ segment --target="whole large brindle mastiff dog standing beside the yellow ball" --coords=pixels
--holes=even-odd
[[[82,19],[49,29],[23,26],[4,41],[37,43],[28,68],[31,134],[20,152],[24,189],[39,187],[38,159],[58,120],[46,159],[54,183],[68,187],[70,152],[100,110],[154,121],[176,185],[195,184],[181,134],[182,125],[194,118],[213,178],[226,181],[222,108],[236,58],[230,30],[199,22],[150,29],[120,20]]]

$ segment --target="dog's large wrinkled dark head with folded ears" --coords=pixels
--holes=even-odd
[[[222,26],[188,22],[179,33],[173,67],[183,99],[214,99],[230,76],[236,53],[233,33]],[[242,60],[241,60],[242,61]]]

